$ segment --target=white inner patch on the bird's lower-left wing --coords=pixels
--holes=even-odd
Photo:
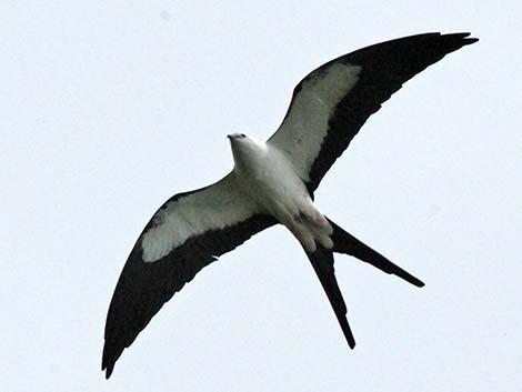
[[[143,233],[144,262],[158,261],[189,238],[247,220],[255,208],[238,192],[229,174],[199,192],[171,201],[152,218],[154,224]]]

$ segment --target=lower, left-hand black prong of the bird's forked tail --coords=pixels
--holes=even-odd
[[[328,295],[328,299],[335,312],[339,324],[341,325],[344,338],[347,338],[350,349],[355,346],[352,331],[347,320],[347,304],[342,298],[341,290],[339,290],[338,281],[335,280],[333,270],[333,252],[322,248],[318,244],[314,252],[307,252],[312,267],[321,281],[322,288]]]

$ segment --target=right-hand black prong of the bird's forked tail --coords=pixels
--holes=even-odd
[[[331,220],[328,221],[333,228],[332,240],[334,252],[353,255],[361,261],[377,267],[385,273],[398,275],[404,279],[406,282],[416,285],[418,288],[422,288],[424,285],[422,281],[413,277],[411,273],[404,271],[399,265],[392,263],[382,254],[375,252],[373,249],[359,241],[352,234],[347,233]]]

